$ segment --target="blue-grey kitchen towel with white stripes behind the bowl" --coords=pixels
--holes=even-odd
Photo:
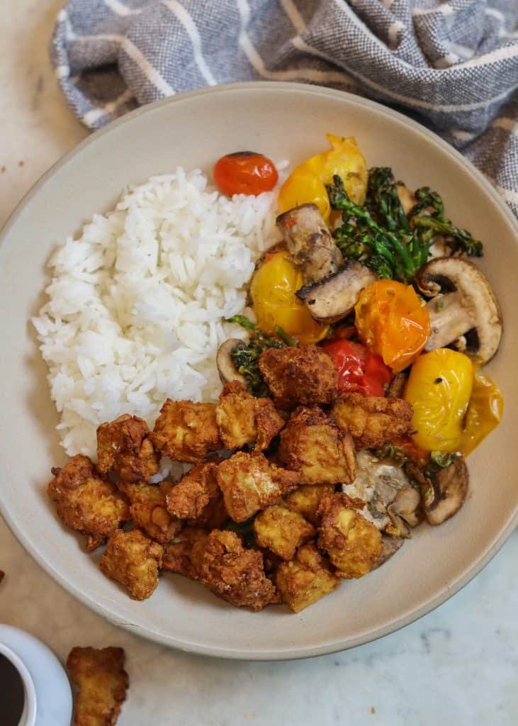
[[[52,62],[92,129],[232,81],[368,96],[459,148],[518,216],[518,0],[70,0]]]

